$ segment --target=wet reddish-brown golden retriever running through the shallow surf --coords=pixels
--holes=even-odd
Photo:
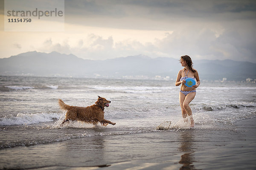
[[[61,99],[59,99],[58,104],[61,110],[67,111],[65,119],[61,125],[70,120],[84,121],[92,123],[93,125],[96,125],[98,122],[100,122],[102,126],[107,126],[108,124],[116,125],[116,123],[104,119],[104,107],[108,107],[111,101],[100,96],[98,97],[99,98],[97,102],[95,102],[96,105],[91,105],[86,108],[66,105]]]

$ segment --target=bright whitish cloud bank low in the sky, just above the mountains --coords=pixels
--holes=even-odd
[[[84,37],[80,36],[79,39],[76,36],[63,38],[61,42],[56,37],[54,40],[49,38],[40,45],[38,51],[72,53],[84,59],[108,59],[138,54],[179,58],[187,54],[193,59],[234,59],[256,62],[252,53],[255,51],[253,48],[255,36],[248,37],[249,34],[253,34],[251,31],[247,29],[245,33],[243,29],[233,29],[232,26],[214,28],[207,23],[187,24],[177,26],[172,33],[163,34],[151,42],[140,42],[132,38],[123,40],[119,38],[117,41],[111,35],[103,37],[87,34]],[[125,30],[125,33],[129,34],[129,30]]]

